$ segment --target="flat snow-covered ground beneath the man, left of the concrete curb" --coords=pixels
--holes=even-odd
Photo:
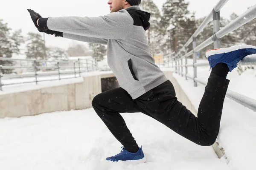
[[[120,152],[93,108],[0,119],[1,170],[230,170],[202,147],[143,113],[123,113],[147,163],[111,162]]]

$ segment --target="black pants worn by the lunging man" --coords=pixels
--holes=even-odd
[[[119,113],[142,112],[186,139],[209,146],[218,136],[229,82],[215,74],[210,75],[198,108],[198,117],[177,101],[169,80],[134,100],[122,88],[105,91],[94,97],[92,105],[111,133],[130,152],[136,152],[138,145]]]

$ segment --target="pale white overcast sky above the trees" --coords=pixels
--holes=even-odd
[[[3,19],[8,26],[14,30],[21,28],[23,35],[28,32],[37,33],[38,30],[32,23],[28,8],[33,9],[42,17],[98,17],[110,12],[108,0],[0,0],[0,19]],[[166,0],[153,0],[154,3],[162,8]],[[195,17],[200,18],[207,16],[219,0],[186,0],[189,2],[189,10],[195,11]],[[222,17],[229,17],[230,14],[242,14],[248,7],[256,5],[255,0],[229,0],[221,9]],[[39,32],[38,32],[39,33]],[[40,33],[43,35],[43,33]],[[81,43],[68,40],[53,35],[45,35],[47,46],[57,46],[68,48],[72,43]]]

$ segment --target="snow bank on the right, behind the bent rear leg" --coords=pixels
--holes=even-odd
[[[207,68],[208,71],[206,71]],[[192,68],[189,68],[189,74],[193,75]],[[209,67],[198,68],[198,78],[207,81],[209,74]],[[194,87],[193,80],[185,80],[185,77],[181,77],[175,73],[173,75],[190,101],[192,101],[192,104],[198,109],[204,94],[205,85],[198,83],[198,87]],[[230,79],[228,89],[256,99],[255,75],[255,70],[247,70],[241,74],[241,76],[239,76],[236,70],[233,70],[227,76],[227,79]],[[219,142],[220,147],[224,148],[227,156],[227,163],[233,170],[252,170],[255,167],[255,121],[255,112],[227,97],[225,98],[220,133],[217,142]]]

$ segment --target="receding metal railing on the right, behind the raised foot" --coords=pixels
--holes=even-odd
[[[201,51],[203,48],[213,43],[213,48],[221,48],[220,40],[225,35],[230,32],[236,30],[237,28],[243,26],[244,24],[250,22],[251,20],[256,18],[256,5],[249,8],[235,20],[230,22],[227,26],[220,29],[220,10],[227,3],[228,0],[220,0],[213,10],[209,13],[209,15],[204,19],[203,23],[197,28],[195,33],[189,38],[189,40],[183,45],[183,47],[176,54],[169,54],[168,56],[164,56],[167,58],[167,62],[165,63],[169,66],[169,62],[172,63],[172,68],[175,68],[175,72],[185,76],[186,80],[188,78],[194,80],[194,86],[197,86],[197,83],[201,83],[206,85],[206,82],[197,78],[197,67],[207,66],[208,62],[205,63],[197,63],[197,52]],[[208,25],[210,21],[213,21],[213,36],[209,37],[207,40],[202,42],[200,45],[197,45],[197,36],[200,34],[204,28]],[[188,46],[193,43],[193,50],[187,51]],[[188,64],[188,57],[193,55],[193,64]],[[172,56],[172,57],[170,57]],[[183,59],[185,59],[185,64],[183,64]],[[166,61],[166,59],[165,59]],[[174,65],[175,64],[175,65]],[[256,65],[256,55],[250,55],[244,57],[238,65]],[[183,67],[185,67],[185,74],[183,74]],[[194,75],[193,77],[188,74],[188,67],[193,67]],[[227,97],[233,99],[236,102],[239,102],[241,105],[244,105],[247,108],[250,108],[253,111],[256,111],[256,100],[251,99],[247,96],[237,94],[233,91],[227,91]]]

